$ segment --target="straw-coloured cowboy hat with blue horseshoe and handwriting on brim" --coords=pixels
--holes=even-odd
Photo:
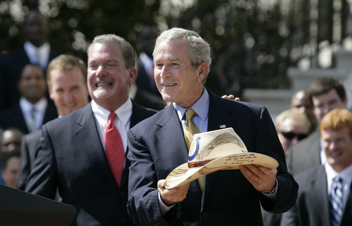
[[[272,157],[248,152],[233,128],[196,133],[189,148],[188,162],[169,173],[165,188],[177,188],[211,172],[238,169],[240,165],[246,164],[270,169],[279,166]]]

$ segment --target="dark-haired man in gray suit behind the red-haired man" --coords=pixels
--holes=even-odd
[[[318,124],[329,111],[347,106],[344,86],[336,78],[318,78],[311,84],[308,93]],[[325,155],[320,146],[319,126],[316,126],[316,130],[309,137],[290,147],[288,170],[292,174],[297,174],[324,163]]]

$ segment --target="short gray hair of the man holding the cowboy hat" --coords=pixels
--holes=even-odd
[[[210,71],[211,65],[211,49],[209,43],[204,41],[202,37],[197,32],[191,30],[185,30],[183,28],[174,27],[169,30],[161,32],[161,34],[156,38],[155,47],[159,43],[172,42],[176,40],[186,41],[189,45],[188,56],[191,58],[193,68],[197,68],[203,62],[209,63],[208,73]],[[155,54],[155,48],[153,56]]]

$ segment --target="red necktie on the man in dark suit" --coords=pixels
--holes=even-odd
[[[115,117],[117,117],[117,115],[114,112],[110,113],[108,117],[108,124],[106,124],[105,131],[105,151],[115,180],[117,184],[120,185],[122,170],[124,170],[125,151],[119,131],[114,124]]]

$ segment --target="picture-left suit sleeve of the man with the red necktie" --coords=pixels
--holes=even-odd
[[[58,188],[56,159],[50,142],[47,127],[42,127],[43,137],[40,138],[34,168],[30,173],[25,188],[26,192],[55,199]]]

